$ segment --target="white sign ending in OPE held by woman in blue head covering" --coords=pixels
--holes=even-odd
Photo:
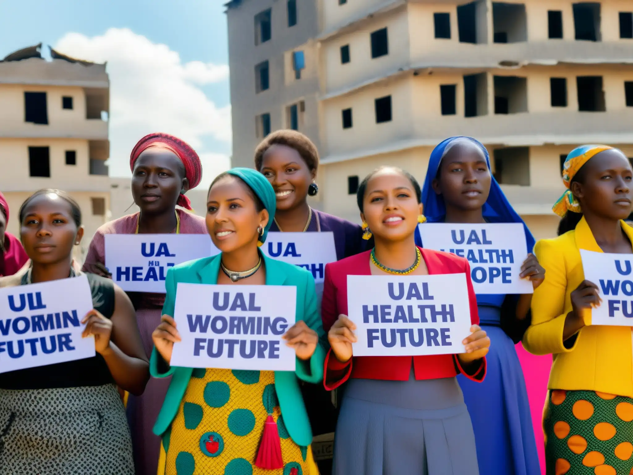
[[[534,292],[532,282],[519,277],[527,258],[521,223],[425,223],[418,231],[423,247],[468,259],[475,293]]]

